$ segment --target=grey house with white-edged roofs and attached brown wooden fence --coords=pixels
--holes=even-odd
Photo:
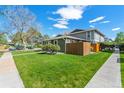
[[[91,51],[98,52],[99,42],[104,42],[104,37],[105,35],[97,29],[75,29],[66,35],[46,39],[43,44],[58,44],[61,52],[86,55]]]

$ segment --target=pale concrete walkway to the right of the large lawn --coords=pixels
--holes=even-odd
[[[100,59],[99,59],[100,60]],[[115,50],[105,64],[97,71],[86,88],[121,88],[120,53]]]

